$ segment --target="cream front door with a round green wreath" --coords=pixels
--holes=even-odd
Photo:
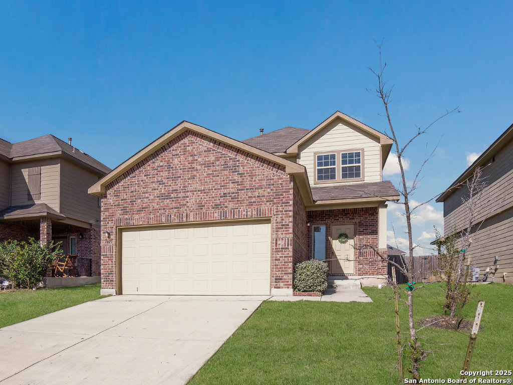
[[[346,243],[339,242],[339,235],[347,234]],[[354,274],[354,224],[331,226],[331,274]]]

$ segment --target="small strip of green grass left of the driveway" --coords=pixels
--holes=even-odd
[[[26,321],[80,303],[103,298],[100,283],[86,286],[2,291],[0,293],[0,328]]]

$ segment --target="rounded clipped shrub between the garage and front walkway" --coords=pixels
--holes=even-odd
[[[310,259],[294,267],[294,290],[297,292],[321,292],[328,287],[328,264]]]

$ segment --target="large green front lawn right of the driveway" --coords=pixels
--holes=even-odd
[[[438,284],[415,292],[415,319],[443,314]],[[401,285],[404,286],[404,285]],[[398,383],[396,323],[390,288],[367,287],[372,303],[266,301],[205,364],[189,385],[205,384],[387,384]],[[471,370],[513,369],[513,287],[471,286],[462,316],[473,321],[478,300],[486,301]],[[406,295],[404,294],[404,298]],[[408,330],[401,305],[401,330]],[[424,328],[419,336],[432,350],[422,378],[460,378],[469,332]],[[407,334],[403,335],[407,341]],[[408,360],[403,357],[406,367]],[[407,377],[408,373],[405,373]],[[411,378],[411,377],[409,377]],[[510,378],[510,377],[486,377]]]

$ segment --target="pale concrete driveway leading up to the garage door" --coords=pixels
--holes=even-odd
[[[269,297],[115,296],[0,329],[0,384],[185,384]]]

